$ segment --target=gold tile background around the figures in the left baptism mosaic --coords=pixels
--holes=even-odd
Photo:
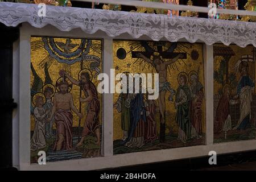
[[[67,39],[65,38],[55,38],[54,39],[55,42],[63,42],[65,43]],[[74,44],[80,44],[81,42],[81,39],[71,39],[72,40],[72,43]],[[32,42],[35,42],[35,41],[42,41],[42,38],[40,37],[31,37],[31,43]],[[42,41],[43,43],[43,41]],[[90,49],[89,51],[89,55],[95,55],[95,56],[98,56],[101,58],[101,65],[100,65],[100,69],[101,69],[101,72],[102,72],[102,41],[101,40],[92,40],[92,47],[95,46],[97,44],[97,52],[94,51],[93,49]],[[71,49],[71,52],[75,51],[77,49],[77,47]],[[37,50],[32,50],[31,49],[31,63],[33,64],[34,68],[35,68],[35,71],[36,73],[38,73],[38,75],[40,76],[40,78],[42,78],[43,80],[43,83],[44,83],[44,77],[45,77],[45,74],[44,74],[44,68],[40,68],[39,67],[39,63],[45,59],[47,56],[48,56],[48,52],[46,51],[46,49],[44,49],[43,47],[42,48],[39,48]],[[85,65],[85,68],[86,66],[89,67],[89,61],[88,63],[86,61],[84,61],[84,65]],[[60,69],[68,69],[68,70],[71,70],[71,76],[73,78],[76,78],[76,80],[78,79],[78,74],[79,74],[79,71],[80,71],[80,62],[76,62],[74,64],[71,65],[71,67],[68,67],[67,64],[61,64],[59,62],[57,62],[57,60],[54,60],[51,67],[49,67],[49,75],[51,76],[51,79],[52,79],[52,84],[55,85],[56,83],[56,80],[57,78],[59,78],[59,70]],[[93,76],[95,74],[95,72],[93,71]],[[34,80],[34,76],[32,75],[32,72],[30,70],[30,85],[32,86],[33,84],[33,80]],[[97,81],[97,77],[96,78],[93,78],[93,83],[94,85],[96,85],[96,88],[97,88],[97,85],[100,81]],[[77,85],[73,85],[73,88],[71,90],[71,93],[73,95],[73,101],[74,101],[74,104],[77,108],[77,110],[79,110],[79,92],[80,92],[80,88],[79,86]],[[82,97],[84,97],[84,94],[82,92]],[[102,123],[102,94],[99,94],[98,93],[98,97],[100,99],[100,102],[101,102],[101,109],[100,109],[100,123]],[[85,108],[86,108],[86,103],[82,103],[82,113],[84,114],[84,117],[81,119],[81,126],[84,125],[84,121],[85,121]],[[31,130],[34,130],[34,117],[31,115]],[[73,113],[73,127],[76,127],[79,125],[79,118],[77,117],[77,115],[75,113]],[[56,129],[55,127],[55,124],[53,124],[53,129]]]

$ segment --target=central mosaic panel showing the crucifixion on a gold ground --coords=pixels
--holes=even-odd
[[[155,100],[114,94],[114,154],[205,143],[202,44],[114,40],[113,59],[115,74],[159,73]]]

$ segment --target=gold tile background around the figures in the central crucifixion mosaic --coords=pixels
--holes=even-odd
[[[150,42],[149,45],[152,47],[152,43]],[[166,46],[170,46],[170,43],[166,42]],[[117,50],[118,48],[124,48],[127,52],[126,58],[123,60],[118,59],[117,57]],[[156,47],[154,47],[156,49]],[[130,73],[156,73],[155,69],[147,63],[142,63],[137,58],[131,57],[131,49],[133,51],[145,51],[145,49],[139,46],[139,42],[136,41],[128,41],[128,40],[114,40],[113,41],[113,60],[114,60],[114,68],[118,67],[118,70],[115,69],[115,74],[122,73],[128,71]],[[167,47],[163,47],[163,51],[165,51]],[[199,58],[197,60],[191,59],[191,51],[197,51],[199,53]],[[177,48],[174,52],[186,52],[187,53],[187,60],[181,61],[177,60],[175,63],[175,67],[170,68],[168,70],[167,80],[170,82],[171,86],[176,90],[179,86],[177,82],[177,75],[180,72],[186,72],[187,74],[190,71],[197,71],[199,73],[199,80],[201,84],[204,86],[204,64],[203,64],[203,44],[200,43],[178,43]],[[167,61],[165,59],[164,61]],[[134,63],[135,62],[135,63]],[[130,64],[130,67],[129,65]],[[143,70],[143,71],[142,71]],[[118,81],[115,82],[117,84]],[[205,94],[205,93],[204,93]],[[114,102],[117,101],[119,94],[114,94]],[[166,93],[166,133],[169,132],[169,128],[172,129],[173,132],[177,133],[178,127],[175,122],[175,114],[176,109],[174,107],[174,102],[168,101],[169,93]],[[205,99],[203,100],[202,104],[202,126],[203,132],[205,131]],[[114,109],[114,135],[113,140],[121,139],[122,138],[122,129],[121,129],[121,113],[118,113],[116,109]],[[156,123],[157,129],[159,134],[159,113],[156,114]]]

